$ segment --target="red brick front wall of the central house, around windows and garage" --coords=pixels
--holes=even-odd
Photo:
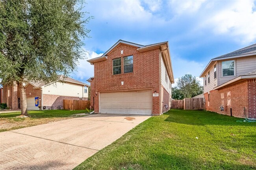
[[[163,50],[163,46],[166,49],[166,53],[160,52]],[[89,81],[91,82],[91,102],[93,102],[94,98],[95,112],[99,112],[99,94],[101,92],[151,89],[152,93],[160,94],[152,97],[152,114],[159,115],[162,113],[160,57],[162,54],[168,55],[168,79],[173,82],[173,72],[168,53],[169,47],[168,42],[152,45],[151,47],[140,51],[137,44],[119,40],[102,57],[88,60],[88,62],[94,64],[94,78]],[[133,72],[123,73],[123,58],[125,56],[133,56]],[[113,75],[112,60],[116,58],[121,58],[122,73]],[[171,94],[168,93],[168,96],[168,99],[171,98]],[[169,100],[165,102],[169,102]]]

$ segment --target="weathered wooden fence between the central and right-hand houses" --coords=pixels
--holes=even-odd
[[[204,110],[204,98],[185,98],[183,100],[173,100],[172,108],[184,110]]]

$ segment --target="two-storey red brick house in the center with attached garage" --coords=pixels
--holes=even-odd
[[[96,113],[160,115],[170,106],[173,69],[168,42],[119,40],[94,65],[91,102]]]

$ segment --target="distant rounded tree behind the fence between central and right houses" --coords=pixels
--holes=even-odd
[[[204,87],[200,85],[200,81],[191,74],[186,74],[178,78],[177,87],[172,87],[172,98],[181,100],[184,98],[193,98],[204,92]]]

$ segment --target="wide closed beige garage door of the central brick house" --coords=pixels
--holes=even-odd
[[[152,90],[101,92],[100,113],[152,114]]]

